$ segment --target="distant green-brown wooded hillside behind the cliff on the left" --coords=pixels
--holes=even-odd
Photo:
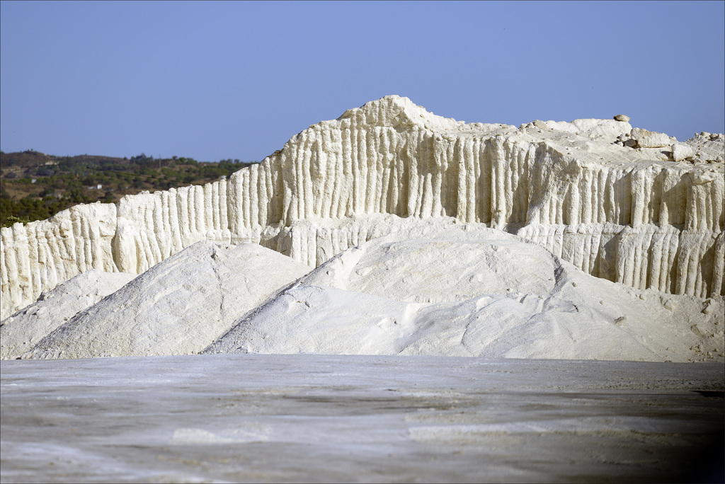
[[[192,158],[159,159],[140,154],[113,158],[94,155],[57,157],[38,151],[0,151],[0,225],[51,217],[76,204],[114,203],[141,191],[202,185],[252,162]]]

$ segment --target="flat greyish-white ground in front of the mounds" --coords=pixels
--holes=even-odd
[[[1,362],[3,482],[722,481],[722,364]]]

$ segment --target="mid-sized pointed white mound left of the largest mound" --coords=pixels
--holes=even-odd
[[[195,354],[309,270],[254,243],[201,241],[79,313],[22,357]]]

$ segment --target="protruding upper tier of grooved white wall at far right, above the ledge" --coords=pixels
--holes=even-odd
[[[526,222],[724,229],[722,173],[687,165],[592,165],[545,150],[529,168]]]

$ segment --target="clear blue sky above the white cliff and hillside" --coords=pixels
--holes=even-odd
[[[0,149],[260,160],[387,94],[722,133],[723,1],[2,1]]]

